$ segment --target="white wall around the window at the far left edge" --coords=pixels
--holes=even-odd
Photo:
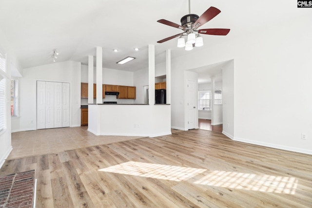
[[[5,92],[5,99],[6,99],[6,106],[5,106],[5,129],[0,132],[0,167],[3,165],[5,159],[12,151],[11,145],[11,114],[10,114],[10,78],[11,72],[21,71],[20,63],[13,52],[9,42],[7,41],[5,35],[3,34],[0,28],[0,50],[2,53],[6,53],[6,73],[2,74],[3,77],[6,78],[6,92]]]

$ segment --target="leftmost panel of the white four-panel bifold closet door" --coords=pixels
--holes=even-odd
[[[37,129],[45,129],[45,82],[37,81]]]

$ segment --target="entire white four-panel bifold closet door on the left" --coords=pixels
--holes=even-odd
[[[69,125],[70,84],[37,81],[37,129]]]

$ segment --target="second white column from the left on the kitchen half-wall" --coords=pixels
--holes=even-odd
[[[103,81],[103,64],[102,64],[102,47],[97,47],[97,104],[102,103],[102,81]]]

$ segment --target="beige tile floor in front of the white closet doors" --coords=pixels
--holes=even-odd
[[[14,132],[12,133],[13,150],[7,159],[56,153],[141,138],[141,136],[96,136],[88,132],[87,128],[87,126],[82,126]]]

